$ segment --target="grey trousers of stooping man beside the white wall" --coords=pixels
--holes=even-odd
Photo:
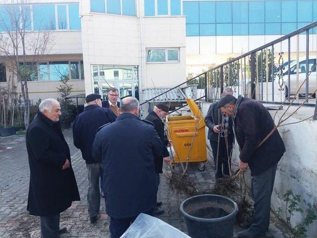
[[[253,176],[251,179],[251,189],[254,197],[254,217],[251,229],[257,232],[265,233],[268,229],[276,168],[277,163],[264,173]]]

